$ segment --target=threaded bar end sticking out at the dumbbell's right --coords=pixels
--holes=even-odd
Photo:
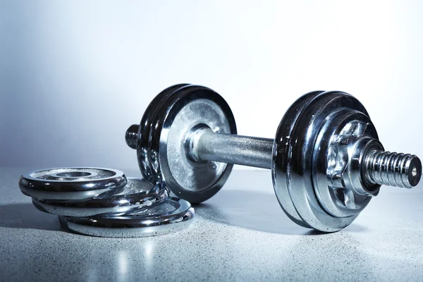
[[[364,159],[369,183],[412,188],[422,176],[422,162],[414,154],[370,151]]]

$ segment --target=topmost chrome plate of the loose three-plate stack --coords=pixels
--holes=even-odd
[[[43,200],[87,200],[120,192],[125,184],[125,174],[111,168],[49,168],[19,179],[23,194]]]

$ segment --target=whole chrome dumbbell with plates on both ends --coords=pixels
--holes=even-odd
[[[364,106],[345,92],[309,92],[283,116],[274,140],[236,135],[225,100],[198,85],[173,85],[147,106],[125,140],[137,149],[142,175],[164,180],[192,203],[226,182],[233,164],[271,169],[284,212],[300,226],[339,231],[381,185],[412,188],[422,163],[385,152]]]

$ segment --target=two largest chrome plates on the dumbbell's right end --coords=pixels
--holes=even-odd
[[[319,132],[331,121],[329,115],[348,110],[368,116],[364,106],[350,94],[311,92],[291,106],[277,130],[272,168],[276,197],[286,214],[302,226],[324,232],[339,231],[359,214],[357,211],[339,217],[326,210],[328,207],[334,210],[329,206],[331,198],[325,195],[330,193],[326,171],[319,176],[323,174],[319,169],[326,166],[319,163],[320,168],[317,168],[312,162],[316,153],[314,148],[319,147]],[[323,162],[326,157],[317,159]]]

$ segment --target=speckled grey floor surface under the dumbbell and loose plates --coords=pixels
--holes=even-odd
[[[27,170],[0,168],[0,281],[423,279],[422,185],[384,187],[344,231],[318,234],[283,214],[269,171],[233,171],[188,229],[112,239],[61,231],[20,193]]]

